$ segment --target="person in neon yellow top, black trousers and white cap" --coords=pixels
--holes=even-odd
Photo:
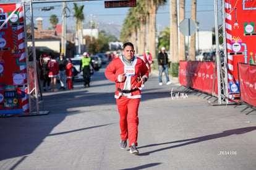
[[[80,62],[80,72],[83,70],[83,81],[85,82],[83,84],[84,87],[90,87],[90,80],[91,80],[91,74],[90,74],[90,65],[92,66],[92,59],[87,55],[87,53],[83,53],[83,58]]]

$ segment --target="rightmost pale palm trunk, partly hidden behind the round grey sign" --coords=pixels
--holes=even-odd
[[[197,20],[196,14],[197,14],[197,0],[192,0],[191,19],[194,20],[194,22]],[[195,34],[190,36],[189,59],[191,61],[195,61]]]

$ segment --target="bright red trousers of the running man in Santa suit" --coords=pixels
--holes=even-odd
[[[132,143],[137,146],[140,98],[130,99],[127,96],[121,96],[121,98],[116,99],[116,104],[120,115],[121,139],[127,140],[128,138],[129,147]]]

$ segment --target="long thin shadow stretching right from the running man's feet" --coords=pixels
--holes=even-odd
[[[139,148],[147,148],[147,147],[155,147],[155,146],[160,146],[160,145],[167,145],[167,144],[171,144],[171,143],[186,142],[186,143],[182,143],[182,144],[179,144],[179,145],[172,145],[172,146],[169,146],[169,147],[164,147],[164,148],[160,148],[160,149],[157,149],[157,150],[148,151],[148,152],[145,152],[145,153],[139,153],[138,156],[147,156],[147,155],[150,155],[151,153],[155,153],[157,151],[169,150],[171,148],[182,147],[182,146],[185,146],[185,145],[190,145],[190,144],[193,144],[193,143],[203,142],[203,141],[206,141],[206,140],[212,140],[212,139],[215,139],[215,138],[228,137],[230,135],[245,134],[245,133],[251,132],[253,130],[256,130],[256,126],[225,130],[225,131],[223,131],[221,133],[218,133],[218,134],[205,135],[205,136],[202,136],[202,137],[189,138],[189,139],[184,139],[184,140],[177,140],[177,141],[173,141],[173,142],[155,143],[155,144],[151,144],[151,145],[145,145],[145,146],[142,146],[142,147],[138,147],[138,149]]]

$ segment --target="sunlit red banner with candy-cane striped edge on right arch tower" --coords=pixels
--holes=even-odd
[[[239,101],[237,63],[256,62],[256,1],[225,0],[229,101]]]

